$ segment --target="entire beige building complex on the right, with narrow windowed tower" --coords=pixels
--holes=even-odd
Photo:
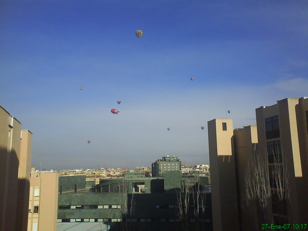
[[[275,225],[308,221],[308,98],[287,98],[269,107],[259,107],[256,120],[257,126],[235,130],[232,120],[208,122],[214,230],[260,228],[257,216],[260,209],[245,203],[249,189],[245,174],[255,156],[260,156],[264,164],[260,171],[266,176],[264,185],[269,187],[265,208],[268,221]],[[250,173],[253,173],[251,168]],[[289,194],[280,201],[275,174],[284,184],[280,187],[282,195]],[[250,179],[256,175],[250,174]],[[226,221],[226,217],[232,217],[233,223]],[[291,225],[289,229],[297,228]]]

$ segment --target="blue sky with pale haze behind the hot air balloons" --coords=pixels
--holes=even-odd
[[[307,7],[1,1],[0,104],[42,168],[209,164],[207,121],[254,125],[255,108],[308,96]]]

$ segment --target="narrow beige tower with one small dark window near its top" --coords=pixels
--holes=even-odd
[[[222,123],[227,123],[227,131]],[[213,230],[238,231],[237,182],[230,119],[208,121]]]

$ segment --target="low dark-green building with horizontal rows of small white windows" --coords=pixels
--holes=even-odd
[[[60,176],[59,185],[63,184],[65,189],[72,188],[74,181],[83,180],[72,177]],[[189,230],[196,230],[196,225],[200,227],[197,230],[213,230],[210,187],[204,185],[203,181],[202,177],[182,177],[180,171],[167,171],[160,179],[102,179],[100,184],[93,186],[93,190],[81,185],[78,193],[69,189],[62,194],[59,191],[58,227],[61,229],[74,224],[78,229],[84,223],[92,223],[96,227],[95,223],[100,222],[103,227],[109,225],[110,230],[187,230],[182,229],[185,224]],[[197,194],[194,197],[189,191],[186,194],[189,198],[189,213],[187,217],[180,218],[178,211],[182,204],[179,205],[178,201],[185,198],[183,189],[196,190],[197,182],[202,188],[199,199],[202,197],[204,200],[200,199],[199,204],[196,204],[194,199]],[[134,189],[139,185],[145,185],[144,192]],[[179,197],[180,193],[182,197]],[[201,211],[200,208],[204,210],[196,217],[193,210]],[[187,223],[184,219],[187,219]]]

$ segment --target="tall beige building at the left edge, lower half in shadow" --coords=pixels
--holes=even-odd
[[[26,230],[32,133],[0,106],[0,230]],[[18,222],[17,222],[18,221]]]

